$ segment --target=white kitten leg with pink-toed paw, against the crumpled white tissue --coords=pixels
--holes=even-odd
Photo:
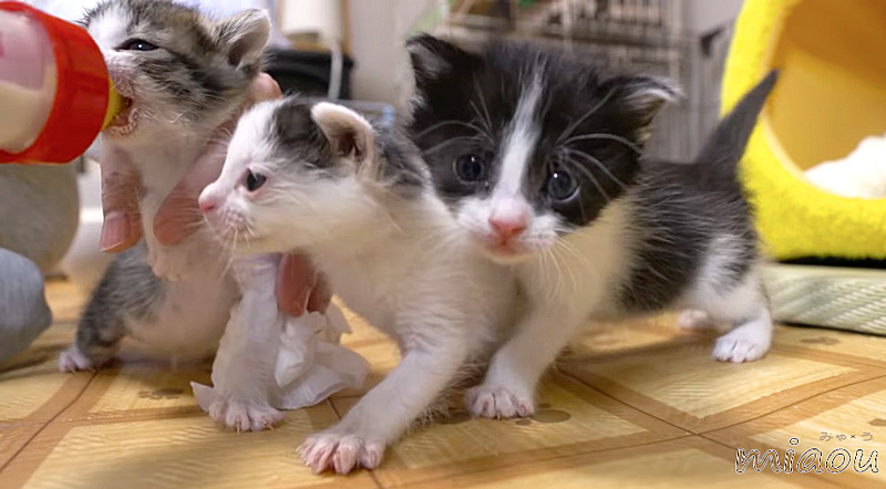
[[[260,431],[284,418],[271,407],[272,397],[279,397],[274,370],[286,321],[275,294],[279,261],[279,256],[235,261],[243,299],[231,309],[222,336],[213,387],[192,383],[198,398],[212,399],[209,416],[237,431]]]

